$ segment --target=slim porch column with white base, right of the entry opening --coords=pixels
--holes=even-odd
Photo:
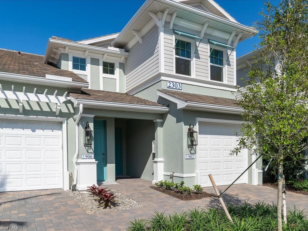
[[[155,123],[155,158],[153,160],[154,180],[164,180],[164,158],[163,158],[163,120],[153,120]]]

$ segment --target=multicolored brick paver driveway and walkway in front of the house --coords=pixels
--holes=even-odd
[[[219,205],[217,198],[195,201],[181,201],[148,188],[150,181],[142,179],[120,179],[119,184],[110,185],[123,195],[137,201],[144,207],[111,213],[87,215],[62,189],[35,190],[0,193],[0,226],[22,226],[23,230],[112,230],[127,228],[135,217],[148,217],[159,211],[172,213],[194,207]],[[220,190],[225,186],[219,187]],[[213,192],[213,188],[205,188]],[[226,203],[242,203],[276,200],[277,190],[263,186],[238,184],[232,186],[223,198]],[[308,209],[308,196],[287,193],[287,206]]]

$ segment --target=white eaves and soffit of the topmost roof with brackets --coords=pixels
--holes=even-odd
[[[213,2],[213,4],[214,3],[215,2]],[[219,5],[217,5],[217,7],[218,6]],[[113,40],[111,46],[129,49],[126,45],[129,44],[130,41],[134,41],[133,39],[136,37],[133,32],[134,30],[139,31],[138,33],[142,37],[148,31],[146,28],[155,26],[156,23],[153,21],[149,12],[157,14],[159,17],[166,12],[165,22],[169,22],[172,15],[177,12],[173,22],[174,24],[177,24],[176,20],[179,20],[179,23],[181,20],[185,20],[185,22],[192,23],[194,30],[197,30],[199,33],[199,31],[202,31],[204,25],[208,23],[205,30],[206,33],[215,31],[215,33],[220,33],[219,36],[223,36],[222,38],[229,39],[230,35],[235,32],[235,34],[233,34],[233,40],[240,35],[237,42],[241,42],[258,33],[257,29],[245,26],[235,21],[235,19],[232,19],[231,16],[231,18],[226,18],[227,16],[225,15],[221,17],[174,0],[147,0],[122,29],[120,34]],[[189,27],[189,23],[186,27]],[[182,26],[183,25],[184,24],[182,24]]]

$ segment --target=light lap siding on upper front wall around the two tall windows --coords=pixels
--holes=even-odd
[[[177,25],[173,25],[173,29],[184,31],[190,34],[194,34],[200,36],[200,32],[196,30],[189,30],[187,28],[183,28]],[[177,38],[177,37],[176,37]],[[212,36],[210,34],[204,34],[204,37],[199,45],[199,41],[195,42],[195,48],[199,45],[198,50],[195,54],[195,75],[196,79],[209,80],[209,42],[208,39],[215,40],[221,43],[227,43],[227,40],[218,38],[216,36]],[[233,45],[233,44],[231,44]],[[169,24],[166,23],[164,25],[164,67],[166,73],[173,74],[173,30],[169,29]],[[228,54],[230,54],[231,50],[228,50],[223,47],[219,47],[219,49],[224,51],[224,63],[227,60]],[[192,50],[192,53],[195,50]],[[227,83],[234,84],[234,56],[233,52],[230,54],[229,59],[227,60]]]

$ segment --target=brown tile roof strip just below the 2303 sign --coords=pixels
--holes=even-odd
[[[228,106],[228,107],[239,107],[235,99],[226,99],[220,97],[213,97],[207,95],[197,95],[191,93],[185,93],[180,91],[171,91],[171,90],[158,90],[162,93],[170,95],[174,98],[183,100],[185,102],[196,102],[196,103],[208,103],[214,105]]]

